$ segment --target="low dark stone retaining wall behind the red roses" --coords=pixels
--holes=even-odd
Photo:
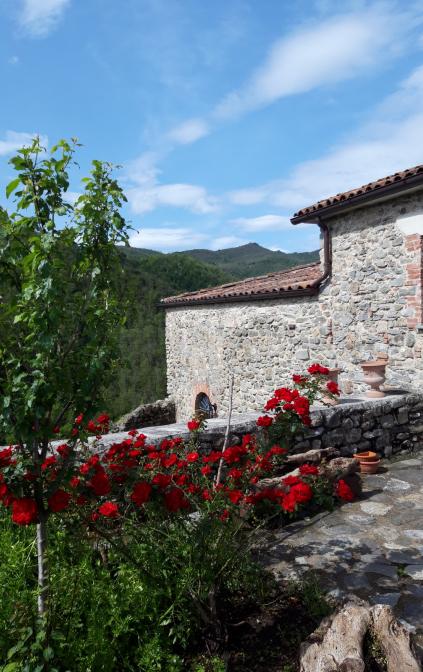
[[[230,444],[235,444],[247,433],[257,431],[257,413],[234,415],[231,422]],[[384,399],[343,399],[333,407],[314,407],[312,426],[295,444],[298,452],[309,448],[334,446],[342,455],[357,451],[374,450],[382,457],[423,448],[423,393],[389,395]],[[221,447],[226,430],[226,418],[208,420],[201,434],[202,446]],[[141,428],[150,443],[159,443],[169,436],[188,438],[186,424]],[[108,434],[102,443],[120,441],[124,432]]]

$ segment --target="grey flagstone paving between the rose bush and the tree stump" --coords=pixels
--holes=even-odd
[[[423,456],[363,482],[360,500],[276,531],[262,560],[285,580],[312,572],[335,598],[390,604],[423,651]]]

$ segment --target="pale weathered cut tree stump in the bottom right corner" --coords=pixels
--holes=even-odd
[[[369,633],[378,643],[388,672],[422,672],[410,633],[391,607],[354,598],[325,618],[300,649],[300,672],[366,672],[363,644]]]

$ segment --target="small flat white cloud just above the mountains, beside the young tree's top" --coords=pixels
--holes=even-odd
[[[205,240],[207,240],[207,235],[192,229],[164,227],[141,229],[130,237],[129,244],[131,247],[168,252],[190,250],[201,245]]]

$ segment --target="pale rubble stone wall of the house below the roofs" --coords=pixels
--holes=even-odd
[[[192,415],[204,389],[218,414],[259,410],[272,390],[312,361],[339,366],[344,393],[363,390],[360,362],[384,352],[387,384],[423,384],[422,238],[403,233],[423,213],[422,192],[327,220],[333,268],[317,297],[167,308],[168,393],[177,419]]]

